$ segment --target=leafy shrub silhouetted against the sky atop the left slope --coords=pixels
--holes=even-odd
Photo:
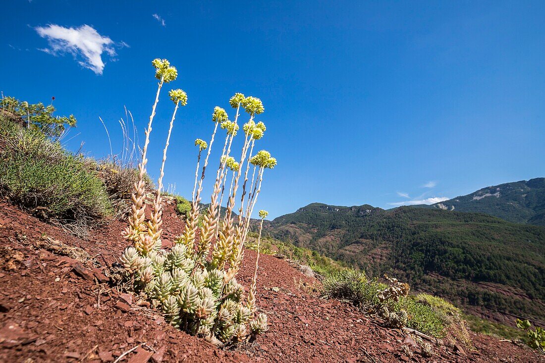
[[[77,120],[72,114],[68,117],[53,116],[56,111],[53,107],[53,100],[54,97],[50,105],[44,106],[41,102],[29,104],[27,101],[21,102],[14,97],[2,96],[0,114],[27,129],[37,130],[47,137],[58,138],[66,127],[76,126]]]

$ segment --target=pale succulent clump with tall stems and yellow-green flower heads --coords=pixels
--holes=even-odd
[[[134,203],[129,216],[129,227],[123,232],[123,237],[131,241],[133,245],[123,252],[121,261],[132,277],[132,281],[135,282],[135,289],[145,293],[152,305],[165,313],[166,319],[171,324],[190,334],[203,336],[217,344],[241,342],[268,329],[267,316],[258,313],[256,305],[259,247],[255,273],[247,297],[244,296],[244,287],[235,279],[244,257],[243,246],[249,232],[250,216],[261,191],[264,171],[276,166],[276,159],[272,158],[270,153],[265,150],[252,155],[255,141],[263,136],[265,130],[263,123],[256,124],[254,118],[257,114],[261,114],[264,108],[261,100],[251,96],[245,97],[240,93],[235,94],[229,101],[231,106],[237,110],[234,122],[228,120],[227,112],[223,108],[215,108],[212,118],[215,126],[210,142],[205,143],[199,139],[195,142],[199,147],[197,171],[191,208],[186,215],[184,233],[175,239],[171,251],[163,250],[161,249],[162,231],[160,228],[162,223],[161,189],[169,136],[164,149],[154,209],[149,221],[145,220],[144,214],[146,188],[143,183],[143,175],[146,172],[149,134],[160,90],[165,82],[173,81],[176,78],[177,70],[165,59],[155,59],[153,65],[156,69],[156,78],[159,79],[159,86],[146,131],[142,161],[138,165],[138,181],[135,183],[135,191],[132,195]],[[176,106],[168,135],[172,130],[174,115],[178,108],[177,102],[184,105],[187,101],[185,93],[183,93],[183,97],[181,95],[181,93],[171,92],[171,99]],[[239,129],[238,118],[241,108],[244,108],[250,115],[249,121],[243,126],[245,136],[243,149],[239,162],[236,164],[237,167],[234,167],[235,164],[232,162],[227,166],[229,158],[232,158],[229,155],[233,138]],[[227,135],[210,204],[205,207],[204,213],[201,213],[202,204],[200,201],[205,170],[219,124],[222,129],[227,130]],[[208,153],[204,159],[199,179],[201,152],[207,147]],[[239,183],[245,162],[244,181]],[[253,165],[253,177],[250,183],[247,183],[250,164]],[[233,171],[232,189],[227,195],[225,215],[221,217],[219,200],[225,191],[227,167]],[[240,198],[238,220],[235,221],[233,208],[239,184],[242,185],[243,192]],[[246,189],[247,187],[248,189]],[[202,223],[199,227],[198,219],[201,214]],[[259,228],[258,246],[261,240],[263,219],[266,215],[266,211],[259,211],[262,222]],[[198,238],[196,238],[197,228],[200,229]]]

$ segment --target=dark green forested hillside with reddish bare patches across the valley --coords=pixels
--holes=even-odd
[[[270,235],[388,273],[468,311],[545,322],[545,228],[485,214],[309,204],[267,223]]]

